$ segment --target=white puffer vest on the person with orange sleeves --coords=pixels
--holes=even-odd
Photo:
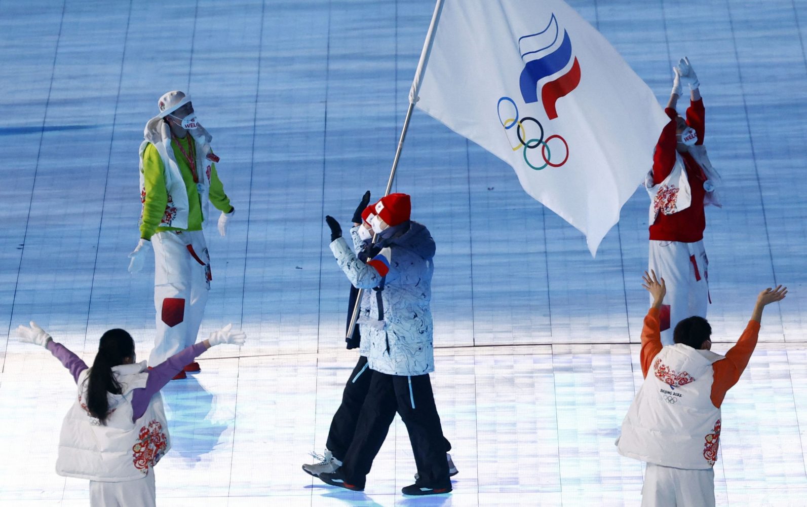
[[[712,363],[722,358],[680,343],[664,347],[622,422],[619,453],[664,467],[713,467],[721,415],[711,399]]]

